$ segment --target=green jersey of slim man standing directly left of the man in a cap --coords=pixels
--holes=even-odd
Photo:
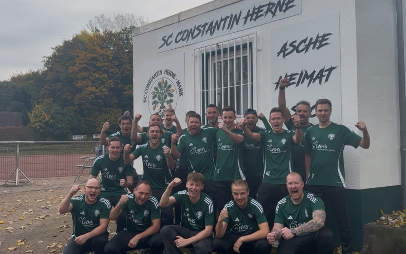
[[[243,135],[242,130],[231,130],[234,134]],[[217,160],[214,170],[214,181],[245,180],[242,151],[244,143],[236,144],[223,130],[215,134],[217,140]]]

